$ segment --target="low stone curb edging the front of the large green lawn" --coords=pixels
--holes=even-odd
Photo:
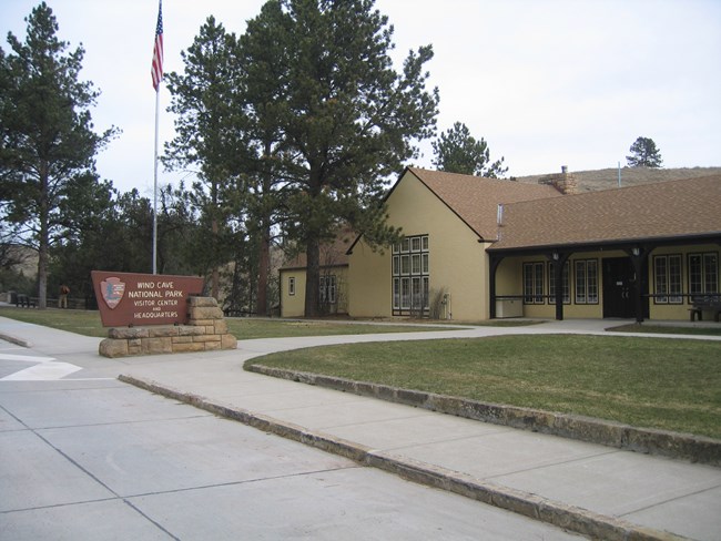
[[[264,376],[353,392],[466,419],[560,436],[628,451],[659,455],[715,467],[721,466],[721,440],[703,436],[638,428],[592,417],[481,402],[366,381],[271,368],[263,365],[245,365],[244,368]]]

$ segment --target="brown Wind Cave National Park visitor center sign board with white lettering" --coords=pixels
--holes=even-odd
[[[185,324],[187,297],[203,292],[203,278],[196,276],[90,274],[103,327]]]

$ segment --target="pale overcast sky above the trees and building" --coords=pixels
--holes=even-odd
[[[8,31],[24,41],[39,0],[1,0]],[[102,94],[98,131],[122,135],[98,156],[102,178],[151,196],[155,93],[150,67],[156,0],[48,0],[81,78]],[[164,0],[165,71],[182,71],[209,16],[243,33],[264,0]],[[491,160],[515,176],[616,167],[638,136],[651,137],[664,167],[721,166],[721,0],[377,0],[395,28],[397,69],[431,43],[427,64],[440,90],[438,127],[464,122]],[[161,89],[160,139],[173,137]],[[430,167],[429,143],[416,165]],[[159,182],[183,172],[161,171]]]

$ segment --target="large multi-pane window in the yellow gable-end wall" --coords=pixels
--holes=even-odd
[[[430,280],[428,235],[404,238],[393,246],[393,314],[428,309]]]

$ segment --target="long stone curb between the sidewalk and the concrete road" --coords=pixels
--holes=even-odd
[[[608,541],[682,541],[688,539],[666,531],[640,527],[626,520],[595,513],[579,507],[567,506],[530,492],[485,482],[446,468],[408,458],[392,457],[367,446],[307,430],[298,425],[284,422],[273,417],[252,414],[242,408],[173,389],[153,380],[125,375],[120,375],[118,379],[213,415],[240,421],[258,430],[348,458],[363,466],[377,468],[419,484],[446,490],[499,509],[522,514],[530,519],[580,533],[590,539],[605,539]]]

